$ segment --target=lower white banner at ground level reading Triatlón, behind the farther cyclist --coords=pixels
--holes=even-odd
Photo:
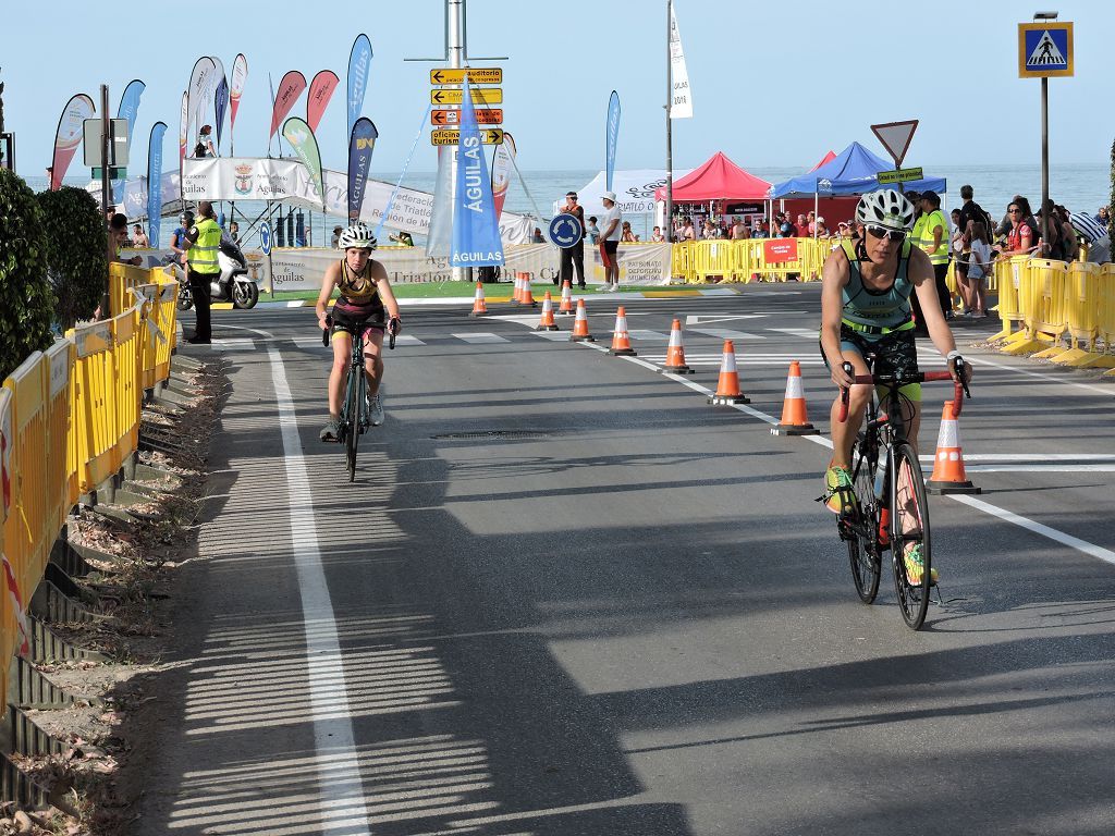
[[[266,260],[254,257],[256,251],[246,252],[253,266],[261,270],[260,284],[269,286],[273,282],[277,292],[288,290],[318,290],[326,268],[341,257],[337,250],[299,247],[271,251],[271,274],[266,272]],[[449,257],[427,256],[418,247],[377,250],[372,256],[382,263],[392,284],[440,284],[452,281],[453,269]],[[529,273],[534,281],[553,281],[561,269],[561,255],[550,244],[523,244],[504,251],[506,266],[502,278],[510,281],[515,273]],[[667,284],[670,280],[669,244],[620,245],[621,284]],[[584,247],[584,270],[591,283],[604,281],[604,268],[598,247]],[[265,300],[264,300],[265,301]]]

